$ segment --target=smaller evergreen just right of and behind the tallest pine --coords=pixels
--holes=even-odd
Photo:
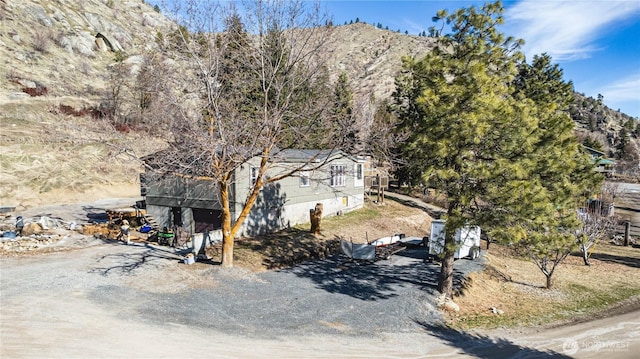
[[[555,269],[576,247],[573,230],[582,224],[576,209],[596,193],[603,178],[593,172],[573,133],[568,113],[574,101],[573,84],[563,81],[558,65],[552,64],[547,54],[534,56],[531,65],[520,65],[515,84],[516,100],[533,101],[531,110],[538,127],[531,134],[535,139],[532,151],[521,160],[528,175],[513,178],[509,185],[532,188],[537,199],[523,207],[517,196],[496,193],[502,209],[508,209],[503,211],[502,228],[496,232],[506,232],[509,242],[515,242],[533,259],[551,288]]]

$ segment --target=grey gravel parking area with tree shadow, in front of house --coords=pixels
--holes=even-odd
[[[416,320],[440,318],[432,299],[439,268],[423,263],[423,252],[407,249],[370,265],[332,258],[259,274],[212,268],[207,274],[217,283],[213,288],[169,295],[128,289],[117,293],[123,300],[135,298],[145,320],[171,320],[227,333],[410,332],[419,327]],[[458,264],[459,276],[479,268],[478,262],[468,260]],[[97,289],[98,297],[102,290]]]

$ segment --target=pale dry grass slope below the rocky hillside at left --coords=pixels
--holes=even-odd
[[[68,195],[68,201],[86,201],[104,190],[115,197],[137,195],[140,163],[117,149],[126,142],[142,156],[158,149],[158,141],[118,134],[90,115],[61,113],[61,106],[85,109],[89,104],[44,98],[0,107],[0,205],[59,203]]]

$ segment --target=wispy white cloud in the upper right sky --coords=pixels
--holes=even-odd
[[[507,8],[506,24],[526,42],[527,57],[543,52],[556,61],[587,58],[594,41],[616,22],[640,12],[640,2],[523,0]]]

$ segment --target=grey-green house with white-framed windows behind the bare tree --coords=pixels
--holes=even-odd
[[[229,189],[232,223],[242,211],[258,175],[260,157],[234,173]],[[245,219],[240,236],[276,231],[309,222],[309,210],[323,204],[323,217],[346,213],[364,204],[364,160],[340,151],[283,150],[272,157],[266,177],[302,167],[293,176],[265,185]],[[190,233],[222,238],[222,205],[215,180],[179,174],[146,173],[142,193],[147,213],[160,227],[183,227]]]

